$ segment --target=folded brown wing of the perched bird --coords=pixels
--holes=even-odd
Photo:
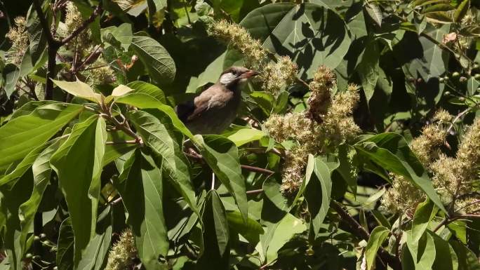
[[[209,109],[225,106],[233,96],[232,91],[225,90],[220,84],[214,84],[194,99],[194,111],[187,117],[187,121],[193,121]]]

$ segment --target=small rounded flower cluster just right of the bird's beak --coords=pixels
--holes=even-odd
[[[298,67],[288,56],[282,56],[278,62],[269,62],[260,75],[265,91],[278,95],[280,90],[291,85],[295,81]]]

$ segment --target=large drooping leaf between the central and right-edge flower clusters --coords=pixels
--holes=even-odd
[[[436,206],[446,212],[439,195],[436,194],[427,172],[413,154],[404,137],[396,133],[381,133],[361,140],[354,145],[359,154],[382,168],[403,175],[420,187]]]

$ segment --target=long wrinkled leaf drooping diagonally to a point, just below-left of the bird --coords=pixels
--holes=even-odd
[[[182,136],[179,137],[175,130],[164,124],[168,123],[166,114],[160,111],[152,113],[156,113],[158,117],[143,111],[128,112],[127,117],[135,125],[143,142],[161,158],[162,166],[175,189],[182,194],[190,208],[199,215],[195,203],[195,191],[190,182],[188,161],[182,153]],[[173,125],[173,123],[170,124]]]

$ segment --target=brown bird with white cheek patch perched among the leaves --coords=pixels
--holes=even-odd
[[[246,67],[225,69],[217,83],[175,107],[178,118],[193,134],[220,134],[236,119],[242,85],[258,74]]]

